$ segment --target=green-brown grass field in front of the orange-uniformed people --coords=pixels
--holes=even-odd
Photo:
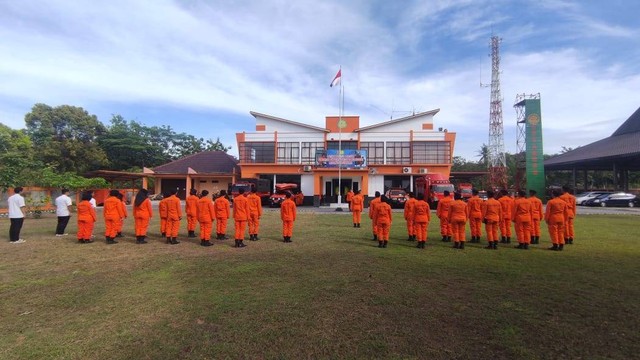
[[[300,213],[284,244],[267,212],[244,249],[136,245],[131,220],[81,245],[47,216],[0,243],[1,359],[640,357],[637,216],[578,217],[563,252],[545,229],[529,251],[454,250],[437,219],[420,250],[399,213],[387,249],[339,214]]]

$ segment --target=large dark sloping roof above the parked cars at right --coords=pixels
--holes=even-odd
[[[611,170],[613,164],[640,170],[640,108],[609,137],[544,162],[548,170]]]

